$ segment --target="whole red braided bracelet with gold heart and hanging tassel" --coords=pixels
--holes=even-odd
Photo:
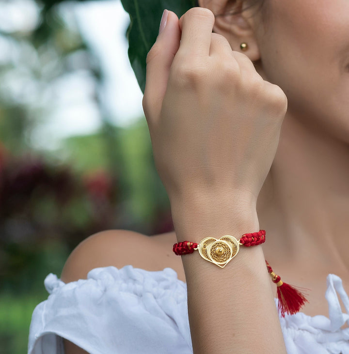
[[[173,251],[177,256],[182,256],[198,250],[201,257],[206,261],[224,268],[238,254],[240,246],[250,247],[261,245],[265,242],[265,235],[265,230],[259,230],[259,232],[245,233],[239,240],[230,235],[224,235],[218,240],[214,237],[206,237],[199,244],[190,241],[174,244]],[[267,261],[265,262],[271,280],[277,286],[276,297],[278,299],[280,315],[285,317],[286,313],[289,315],[297,313],[308,302],[298,290],[301,288],[296,288],[283,282],[281,277],[273,272],[270,264]]]

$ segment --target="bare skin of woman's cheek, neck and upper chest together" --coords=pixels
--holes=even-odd
[[[280,274],[312,289],[303,311],[327,315],[327,274],[349,289],[349,3],[268,6],[267,31],[255,31],[257,70],[286,92],[288,110],[257,205],[263,248]]]

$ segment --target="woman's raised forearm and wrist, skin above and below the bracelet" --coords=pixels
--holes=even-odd
[[[259,231],[254,211],[235,216],[229,213],[234,209],[221,206],[220,212],[216,202],[211,210],[173,206],[178,242],[199,243],[227,234],[239,239]],[[181,257],[194,354],[286,353],[261,246],[240,247],[224,268],[207,262],[198,251]]]

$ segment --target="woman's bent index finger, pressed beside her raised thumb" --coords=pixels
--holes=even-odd
[[[179,20],[182,38],[179,50],[198,56],[208,56],[211,44],[211,33],[215,17],[212,11],[193,7]]]

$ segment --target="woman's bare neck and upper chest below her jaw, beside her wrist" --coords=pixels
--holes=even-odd
[[[349,146],[287,113],[257,212],[270,264],[348,276]]]

